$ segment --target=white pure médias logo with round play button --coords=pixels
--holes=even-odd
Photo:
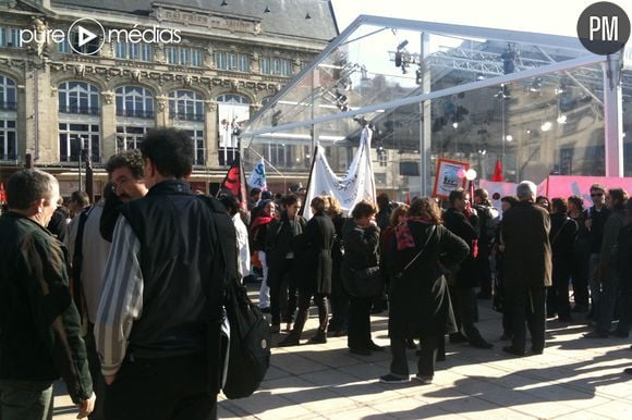
[[[163,28],[157,25],[149,27],[134,25],[132,28],[106,29],[99,21],[92,17],[82,17],[74,21],[68,30],[52,28],[37,28],[20,30],[22,45],[63,44],[83,55],[97,54],[106,42],[126,44],[179,44],[182,40],[180,29]]]

